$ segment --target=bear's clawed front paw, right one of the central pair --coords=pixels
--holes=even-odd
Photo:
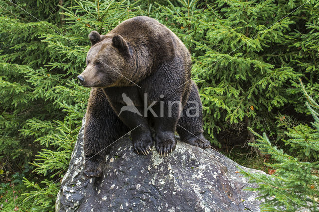
[[[155,148],[160,155],[168,156],[176,148],[176,139],[173,132],[161,132],[155,135]]]

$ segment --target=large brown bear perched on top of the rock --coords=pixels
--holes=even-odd
[[[167,156],[181,141],[210,147],[202,105],[191,80],[191,57],[182,41],[150,17],[123,21],[106,35],[89,34],[87,67],[78,76],[92,87],[84,127],[86,177],[102,174],[105,147],[131,130],[133,149]],[[151,127],[154,129],[154,139]]]

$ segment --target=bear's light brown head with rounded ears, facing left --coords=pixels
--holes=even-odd
[[[127,78],[131,54],[127,41],[121,35],[89,34],[91,48],[86,56],[86,68],[78,76],[85,87],[112,87]]]

